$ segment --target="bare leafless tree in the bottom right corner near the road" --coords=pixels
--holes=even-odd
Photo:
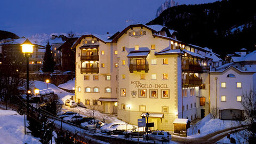
[[[246,91],[242,95],[241,105],[244,109],[244,121],[236,121],[238,126],[246,127],[244,131],[236,134],[247,141],[247,143],[255,143],[256,141],[256,92],[254,90]],[[238,139],[239,143],[243,143]]]

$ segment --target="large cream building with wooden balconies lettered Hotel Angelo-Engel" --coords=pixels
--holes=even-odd
[[[215,61],[218,55],[208,48],[178,41],[176,34],[137,24],[113,36],[80,37],[73,45],[76,101],[136,125],[148,112],[155,129],[169,131],[175,118],[209,113],[209,105],[201,104],[209,101],[210,68],[221,59]]]

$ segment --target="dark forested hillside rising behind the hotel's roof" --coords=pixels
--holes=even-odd
[[[178,31],[178,39],[211,47],[222,56],[242,47],[255,50],[254,1],[229,0],[170,7],[147,25],[164,25]]]

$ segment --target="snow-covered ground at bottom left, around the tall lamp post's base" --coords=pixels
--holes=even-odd
[[[0,122],[0,143],[41,143],[38,138],[24,134],[24,116],[16,111],[0,109]]]

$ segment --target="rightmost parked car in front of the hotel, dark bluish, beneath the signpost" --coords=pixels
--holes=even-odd
[[[166,131],[155,131],[152,133],[143,134],[142,136],[143,140],[163,140],[163,141],[170,141],[172,139],[172,135],[169,132]]]

